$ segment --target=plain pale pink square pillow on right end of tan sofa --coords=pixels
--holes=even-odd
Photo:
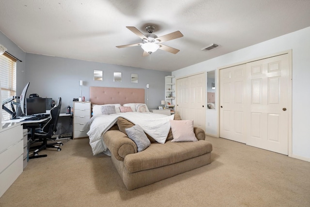
[[[193,120],[170,120],[173,140],[171,142],[196,142]]]

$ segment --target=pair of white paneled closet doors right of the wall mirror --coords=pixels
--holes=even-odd
[[[221,69],[220,107],[220,137],[288,155],[288,54]]]

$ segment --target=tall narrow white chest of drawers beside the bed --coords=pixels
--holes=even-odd
[[[73,102],[73,139],[87,136],[87,122],[91,118],[91,102]]]

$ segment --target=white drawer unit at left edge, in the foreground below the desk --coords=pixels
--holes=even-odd
[[[6,123],[0,129],[0,197],[23,172],[23,127]]]

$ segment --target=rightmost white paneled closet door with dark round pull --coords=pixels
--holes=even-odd
[[[247,144],[288,155],[288,54],[248,63],[247,70]]]

